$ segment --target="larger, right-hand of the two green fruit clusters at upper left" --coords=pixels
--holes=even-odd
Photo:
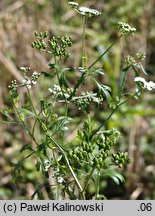
[[[68,57],[67,48],[72,45],[71,38],[68,36],[53,37],[49,41],[51,52],[57,57]]]

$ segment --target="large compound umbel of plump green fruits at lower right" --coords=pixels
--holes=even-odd
[[[97,169],[106,169],[109,163],[113,162],[116,166],[122,167],[129,163],[127,153],[111,153],[113,146],[116,145],[120,132],[116,129],[100,131],[97,137],[91,139],[90,134],[93,130],[93,122],[88,117],[84,122],[83,130],[78,131],[79,145],[74,149],[69,149],[68,156],[73,159],[73,166],[79,167],[88,163]]]

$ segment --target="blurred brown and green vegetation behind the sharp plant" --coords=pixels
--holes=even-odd
[[[34,31],[49,31],[50,36],[67,34],[73,39],[71,56],[66,66],[80,65],[82,20],[67,4],[66,0],[1,0],[0,1],[0,109],[9,104],[8,85],[11,80],[21,80],[20,66],[30,66],[33,70],[47,70],[48,55],[31,48]],[[155,2],[154,0],[78,0],[79,4],[96,8],[102,12],[87,26],[87,55],[91,63],[108,45],[115,40],[118,21],[136,27],[134,37],[121,40],[98,62],[106,71],[113,89],[119,77],[125,57],[137,52],[145,52],[144,68],[148,79],[155,81]],[[133,87],[133,74],[130,73],[127,89]],[[146,77],[147,78],[147,77]],[[37,100],[46,91],[49,82],[41,79],[33,89]],[[91,88],[91,86],[90,86]],[[101,182],[100,193],[108,199],[155,199],[155,91],[145,92],[139,102],[124,105],[109,121],[109,128],[118,128],[123,136],[119,149],[127,150],[131,164],[120,172],[125,183],[106,179]],[[24,92],[21,95],[24,101]],[[75,113],[77,115],[77,113]],[[104,111],[98,116],[104,117]],[[79,118],[80,113],[78,113]],[[29,143],[29,137],[20,127],[0,124],[0,199],[30,199],[36,189],[42,191],[44,199],[52,199],[47,179],[35,169],[28,159],[23,166],[23,178],[12,181],[11,162],[22,159],[21,147]],[[88,189],[88,197],[94,188]]]

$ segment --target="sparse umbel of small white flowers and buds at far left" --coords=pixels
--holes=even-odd
[[[24,69],[24,67],[23,67],[23,69]],[[18,83],[17,80],[13,80],[13,81],[11,81],[11,85],[9,85],[8,87],[10,89],[17,89],[18,87],[25,86],[28,89],[31,89],[32,85],[37,84],[37,80],[38,80],[39,76],[40,76],[40,73],[34,71],[31,77],[24,75],[24,79],[21,81],[21,83]]]

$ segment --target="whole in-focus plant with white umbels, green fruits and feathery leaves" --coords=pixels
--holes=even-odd
[[[106,124],[118,108],[139,96],[144,88],[154,89],[154,83],[146,82],[139,77],[139,69],[143,69],[140,61],[143,60],[144,54],[138,53],[135,57],[127,57],[120,72],[119,84],[116,86],[117,91],[113,94],[111,84],[103,84],[103,80],[99,80],[98,76],[108,75],[103,73],[102,68],[94,68],[94,65],[124,35],[132,35],[136,29],[129,24],[119,22],[117,26],[121,35],[87,67],[86,20],[100,15],[100,12],[95,9],[78,7],[75,2],[69,2],[69,5],[78,14],[82,15],[84,21],[81,38],[82,65],[80,67],[63,68],[61,64],[62,60],[69,57],[68,48],[72,45],[71,37],[62,35],[47,39],[47,32],[35,32],[36,40],[32,42],[31,46],[50,55],[52,62],[48,64],[49,72],[41,71],[38,73],[34,71],[32,75],[29,75],[31,72],[29,67],[20,68],[24,74],[24,79],[21,83],[13,80],[9,86],[13,112],[0,111],[6,118],[5,121],[1,122],[22,125],[23,130],[31,138],[31,144],[25,144],[21,149],[21,153],[26,152],[27,155],[19,163],[12,163],[14,181],[18,181],[22,176],[25,161],[33,157],[33,159],[35,158],[34,166],[43,178],[54,179],[55,187],[59,191],[59,198],[64,199],[65,194],[67,194],[70,199],[86,199],[86,190],[92,181],[96,188],[95,198],[99,199],[104,198],[99,193],[101,174],[103,174],[103,177],[109,176],[115,183],[119,184],[124,181],[124,178],[115,169],[122,168],[130,163],[127,152],[116,151],[120,132],[115,128],[106,130]],[[136,88],[134,91],[126,93],[125,83],[126,75],[130,72],[129,69],[133,69],[138,80],[135,80]],[[67,78],[67,73],[70,71],[75,77],[76,72],[79,75],[79,78],[75,79],[74,85]],[[145,73],[144,70],[143,72]],[[51,84],[48,88],[48,95],[45,92],[39,103],[34,105],[31,87],[37,84],[40,75],[43,75],[45,79],[54,79],[55,84],[53,86]],[[92,82],[93,90],[89,90],[88,80]],[[85,91],[81,91],[82,86],[84,86]],[[20,101],[19,88],[25,88],[26,90],[28,102],[25,102],[25,104]],[[61,110],[60,107],[62,107]],[[80,110],[83,115],[80,129],[74,121],[76,116],[73,116],[70,112],[74,109]],[[95,113],[100,110],[107,113],[107,116],[98,125]],[[69,141],[68,136],[72,135],[74,127],[76,128],[74,137],[72,141]],[[39,199],[43,199],[39,189],[40,187],[36,188],[36,193]],[[56,194],[54,194],[54,198],[56,198]]]

